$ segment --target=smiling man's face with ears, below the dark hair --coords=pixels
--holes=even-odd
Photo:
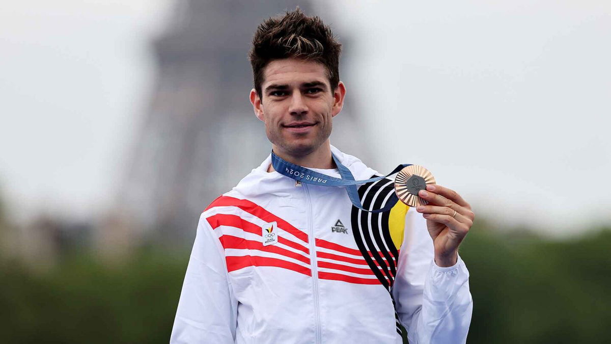
[[[304,156],[328,140],[346,90],[340,82],[331,91],[323,64],[291,58],[269,62],[261,92],[251,91],[251,103],[274,149]]]

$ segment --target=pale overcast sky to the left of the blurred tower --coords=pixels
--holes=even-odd
[[[0,11],[0,188],[18,218],[109,206],[154,77],[166,0],[26,0]]]

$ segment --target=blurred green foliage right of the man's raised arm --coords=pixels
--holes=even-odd
[[[477,223],[461,256],[474,299],[468,343],[609,343],[611,228],[565,241]]]

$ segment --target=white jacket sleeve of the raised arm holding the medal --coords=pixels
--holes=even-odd
[[[434,263],[433,239],[415,209],[406,214],[403,235],[392,295],[409,343],[466,343],[473,300],[463,260]]]

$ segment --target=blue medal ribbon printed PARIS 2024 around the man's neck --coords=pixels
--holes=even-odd
[[[337,170],[339,170],[340,176],[342,176],[341,179],[327,176],[326,174],[312,171],[309,168],[305,168],[304,166],[299,166],[299,165],[295,165],[294,163],[290,163],[287,160],[284,160],[281,157],[279,157],[278,155],[276,155],[274,151],[271,152],[271,164],[272,166],[274,166],[274,170],[276,170],[278,173],[283,174],[284,176],[295,179],[296,181],[299,181],[305,184],[313,184],[313,185],[320,185],[320,186],[346,187],[346,192],[348,192],[348,198],[350,198],[350,201],[352,201],[352,204],[356,208],[359,208],[360,210],[367,211],[367,212],[374,212],[374,213],[375,212],[385,212],[385,211],[389,211],[390,209],[392,209],[393,206],[395,206],[395,204],[397,203],[399,199],[397,198],[397,195],[395,195],[395,193],[392,193],[392,195],[390,196],[390,199],[387,201],[386,206],[384,206],[384,208],[375,209],[375,210],[364,209],[363,204],[360,203],[359,193],[356,190],[356,185],[365,184],[368,182],[376,182],[381,179],[384,179],[387,176],[390,176],[391,174],[395,174],[398,171],[403,170],[404,167],[410,166],[411,165],[410,163],[406,163],[406,164],[397,166],[397,168],[392,170],[392,172],[390,172],[389,174],[386,174],[386,176],[365,179],[363,181],[355,181],[354,176],[352,175],[350,170],[348,170],[346,166],[340,163],[340,160],[338,160],[337,157],[335,157],[335,154],[331,154],[331,155],[333,157],[335,165],[337,165]]]

